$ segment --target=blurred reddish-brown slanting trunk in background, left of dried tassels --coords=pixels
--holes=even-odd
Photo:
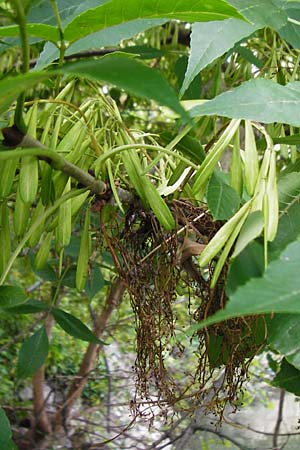
[[[106,298],[105,305],[101,313],[97,316],[94,327],[94,334],[97,338],[100,338],[107,326],[107,322],[114,311],[114,309],[120,304],[122,296],[125,291],[125,283],[121,279],[117,279],[111,286],[110,292]],[[70,417],[70,412],[72,406],[80,397],[84,386],[88,381],[90,372],[93,370],[95,365],[95,360],[98,354],[100,344],[90,343],[87,350],[83,356],[78,375],[74,379],[69,392],[67,394],[67,399],[63,405],[60,406],[55,418],[54,426],[59,428],[66,424]]]

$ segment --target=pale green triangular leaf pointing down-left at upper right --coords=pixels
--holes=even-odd
[[[195,23],[192,26],[191,52],[180,95],[183,95],[202,69],[257,28],[238,19]]]

